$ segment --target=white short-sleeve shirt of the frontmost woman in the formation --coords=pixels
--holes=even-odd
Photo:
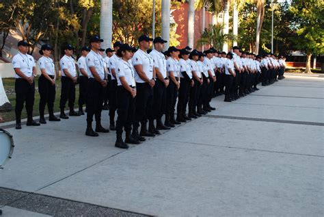
[[[135,87],[135,71],[130,62],[126,62],[125,60],[119,59],[116,61],[116,77],[118,86],[122,86],[122,82],[120,82],[120,77],[124,77],[127,84],[129,86]]]

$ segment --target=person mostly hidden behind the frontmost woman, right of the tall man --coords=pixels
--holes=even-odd
[[[109,129],[116,130],[115,127],[115,113],[116,113],[116,90],[117,90],[117,80],[116,80],[116,61],[120,59],[117,54],[118,49],[122,45],[121,42],[115,42],[113,44],[113,49],[115,53],[109,58],[109,72],[111,75],[111,81],[109,84]]]

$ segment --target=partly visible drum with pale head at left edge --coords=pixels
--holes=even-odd
[[[0,129],[0,168],[5,166],[5,163],[11,158],[12,153],[14,152],[14,140],[12,135]]]

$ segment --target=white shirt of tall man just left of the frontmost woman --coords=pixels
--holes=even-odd
[[[105,63],[103,62],[103,56],[94,51],[87,53],[85,57],[85,63],[87,64],[88,77],[94,77],[90,71],[90,67],[94,66],[101,80],[105,79]]]

